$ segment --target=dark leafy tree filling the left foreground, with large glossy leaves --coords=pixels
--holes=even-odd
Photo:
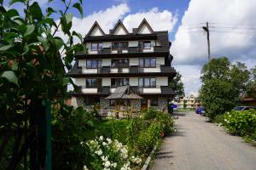
[[[11,8],[13,3],[24,14]],[[59,3],[64,10],[42,11],[37,1],[10,0],[5,8],[0,0],[0,169],[20,169],[22,157],[30,169],[44,169],[46,108],[58,105],[59,117],[72,111],[64,105],[67,84],[73,83],[64,69],[71,68],[73,54],[84,46],[81,35],[71,31],[73,15],[67,12],[77,8],[83,15],[82,1]],[[57,37],[57,31],[68,40]],[[73,44],[77,37],[80,43]]]

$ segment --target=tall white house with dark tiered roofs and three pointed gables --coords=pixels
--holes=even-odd
[[[68,75],[74,78],[79,92],[72,105],[90,108],[96,103],[111,110],[115,100],[105,99],[119,86],[130,85],[143,99],[134,101],[134,109],[153,107],[167,111],[175,93],[168,87],[176,76],[169,52],[172,43],[168,31],[154,31],[143,20],[132,32],[119,20],[109,33],[97,22],[84,37],[86,53],[75,54],[75,64]]]

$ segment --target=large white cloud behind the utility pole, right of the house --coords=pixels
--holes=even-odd
[[[201,26],[204,26],[203,23],[207,21],[211,26],[210,40],[213,57],[226,56],[232,63],[236,60],[245,62],[248,68],[256,65],[255,8],[255,0],[190,1],[171,48],[171,54],[174,56],[173,63],[191,64],[190,66],[174,65],[183,75],[187,95],[195,94],[201,87],[201,66],[207,62],[207,37]]]

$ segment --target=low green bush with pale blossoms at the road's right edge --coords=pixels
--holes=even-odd
[[[224,114],[224,127],[239,136],[255,136],[256,111],[230,111]]]

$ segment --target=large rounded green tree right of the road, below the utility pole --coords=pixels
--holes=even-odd
[[[239,62],[231,65],[226,57],[211,59],[203,66],[200,99],[210,120],[236,105],[241,95],[245,94],[248,79],[246,65]]]

